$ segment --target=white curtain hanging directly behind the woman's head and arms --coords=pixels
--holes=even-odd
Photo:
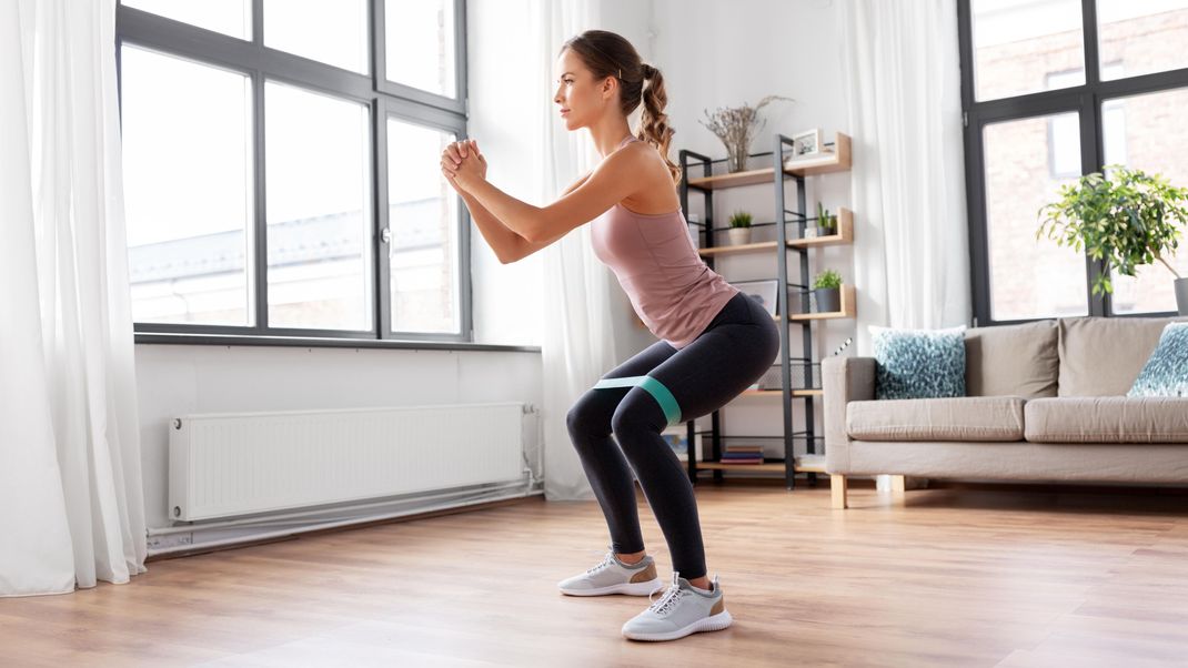
[[[533,38],[539,45],[535,98],[541,117],[542,202],[552,202],[595,161],[589,133],[568,132],[552,103],[552,69],[565,39],[596,27],[592,2],[533,0]],[[593,498],[581,460],[574,451],[565,415],[577,397],[615,365],[609,269],[594,255],[590,225],[582,225],[543,249],[544,332],[541,342],[544,405],[544,495],[550,501]]]

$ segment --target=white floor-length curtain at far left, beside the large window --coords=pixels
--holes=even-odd
[[[0,0],[0,597],[143,573],[115,0]]]

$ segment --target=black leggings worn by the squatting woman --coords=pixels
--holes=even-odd
[[[671,393],[684,422],[738,396],[771,368],[778,352],[779,330],[772,317],[739,293],[689,345],[677,350],[663,341],[653,343],[604,378],[651,376]],[[672,570],[696,579],[706,575],[697,504],[684,465],[661,437],[668,420],[647,389],[619,387],[587,390],[567,422],[611,529],[612,549],[618,554],[644,549],[630,462],[664,532]],[[689,456],[694,453],[690,443]]]

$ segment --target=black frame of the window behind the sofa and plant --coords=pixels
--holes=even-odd
[[[969,271],[973,291],[974,326],[1010,325],[1045,320],[1056,316],[996,320],[991,317],[990,247],[986,227],[986,180],[982,128],[990,123],[1031,119],[1060,113],[1076,113],[1080,119],[1081,173],[1104,168],[1101,107],[1119,97],[1188,88],[1188,68],[1101,81],[1098,51],[1095,0],[1081,0],[1081,28],[1085,49],[1085,83],[1057,90],[1042,90],[996,100],[975,100],[972,0],[958,0],[958,45],[961,62],[961,109],[965,126],[966,206],[969,227]],[[1036,223],[1038,227],[1038,222]],[[1105,271],[1105,261],[1085,256],[1085,298],[1088,316],[1167,317],[1175,311],[1114,313],[1112,295],[1094,295],[1092,286]]]

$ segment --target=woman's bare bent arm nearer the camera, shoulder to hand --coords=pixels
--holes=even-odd
[[[646,166],[645,159],[642,151],[615,151],[590,172],[586,183],[543,208],[516,199],[491,185],[473,171],[474,165],[468,165],[468,160],[457,167],[455,178],[505,225],[530,242],[539,242],[593,221],[638,191],[638,174]]]

